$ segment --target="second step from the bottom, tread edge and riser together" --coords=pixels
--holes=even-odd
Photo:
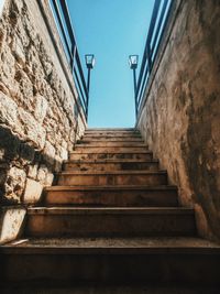
[[[194,236],[189,208],[35,207],[28,209],[30,237]]]

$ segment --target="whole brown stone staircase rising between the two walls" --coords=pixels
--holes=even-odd
[[[87,130],[0,253],[3,284],[220,285],[220,247],[135,129]]]

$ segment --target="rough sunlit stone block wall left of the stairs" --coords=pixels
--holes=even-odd
[[[36,203],[86,128],[48,1],[41,3],[40,9],[37,0],[7,0],[0,19],[3,206]],[[23,211],[20,207],[14,209]]]

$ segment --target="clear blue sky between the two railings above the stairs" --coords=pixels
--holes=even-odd
[[[133,76],[128,56],[139,54],[141,63],[154,0],[67,2],[84,66],[85,54],[96,55],[89,127],[133,127]]]

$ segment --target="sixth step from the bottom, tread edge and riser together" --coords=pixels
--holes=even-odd
[[[74,152],[69,153],[69,160],[121,160],[121,159],[151,161],[153,159],[153,154],[150,151],[139,151],[139,152],[108,151],[108,152],[102,152],[102,151],[98,151],[98,150],[96,150],[96,152],[74,151]]]

